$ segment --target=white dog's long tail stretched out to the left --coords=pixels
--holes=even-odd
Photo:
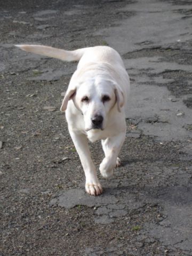
[[[30,44],[18,44],[15,45],[21,50],[26,52],[33,52],[47,57],[56,58],[65,61],[78,61],[81,59],[87,48],[78,49],[75,51],[66,51],[62,49],[57,49],[50,46],[44,45],[30,45]]]

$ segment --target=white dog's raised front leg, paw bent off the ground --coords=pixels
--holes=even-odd
[[[105,153],[105,158],[99,166],[102,177],[110,178],[113,175],[114,168],[120,166],[121,161],[118,158],[119,151],[122,148],[125,140],[125,132],[102,140],[102,148]]]

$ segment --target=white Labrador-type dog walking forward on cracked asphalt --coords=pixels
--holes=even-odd
[[[92,162],[87,138],[101,140],[105,158],[99,170],[109,178],[121,164],[118,158],[126,133],[125,108],[130,81],[120,55],[108,46],[65,51],[42,45],[16,45],[28,52],[65,61],[78,61],[61,111],[85,172],[85,189],[98,196],[102,187]]]

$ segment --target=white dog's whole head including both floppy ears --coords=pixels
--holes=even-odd
[[[110,79],[88,79],[78,86],[69,86],[61,111],[67,109],[67,103],[71,99],[84,117],[86,131],[104,130],[110,110],[117,107],[121,112],[124,105],[121,88]]]

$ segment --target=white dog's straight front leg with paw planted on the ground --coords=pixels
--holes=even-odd
[[[91,159],[87,138],[82,133],[75,133],[74,131],[69,131],[69,133],[85,172],[85,190],[92,196],[98,196],[102,193],[102,187],[99,183],[97,172]]]

